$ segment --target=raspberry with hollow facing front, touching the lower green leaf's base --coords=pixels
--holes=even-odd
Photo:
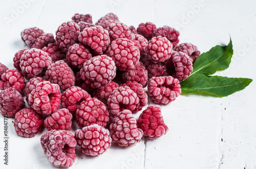
[[[174,101],[181,93],[179,80],[172,76],[152,77],[147,89],[151,100],[161,104]]]

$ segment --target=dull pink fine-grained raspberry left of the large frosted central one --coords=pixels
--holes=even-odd
[[[56,61],[47,68],[46,78],[51,83],[59,85],[61,90],[75,86],[75,75],[72,69],[64,61]]]

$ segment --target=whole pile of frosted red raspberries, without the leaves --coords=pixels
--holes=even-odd
[[[19,136],[47,128],[40,144],[57,167],[72,166],[76,145],[98,156],[112,143],[130,147],[143,135],[160,137],[168,127],[148,98],[173,102],[200,55],[195,45],[179,43],[179,35],[152,22],[136,29],[113,13],[95,24],[90,14],[77,13],[55,38],[38,27],[25,29],[27,48],[14,54],[14,69],[0,63],[0,112],[14,118]],[[80,128],[73,133],[72,119]]]

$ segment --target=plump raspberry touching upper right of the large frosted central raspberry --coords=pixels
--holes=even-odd
[[[140,59],[139,49],[133,41],[126,38],[118,38],[112,41],[107,53],[121,71],[133,69]]]

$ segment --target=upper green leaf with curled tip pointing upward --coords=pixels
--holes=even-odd
[[[227,46],[217,45],[212,47],[209,51],[202,53],[196,59],[191,75],[196,73],[210,75],[214,74],[218,69],[228,68],[233,54],[232,47],[232,41],[230,38]]]

